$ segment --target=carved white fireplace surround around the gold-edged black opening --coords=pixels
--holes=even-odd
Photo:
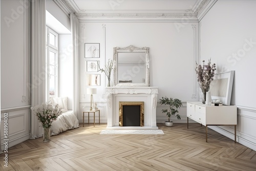
[[[158,129],[156,123],[157,87],[107,87],[107,129]],[[144,126],[119,126],[119,102],[143,101]]]

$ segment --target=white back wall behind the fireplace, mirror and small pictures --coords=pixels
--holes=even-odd
[[[194,64],[198,59],[198,23],[92,22],[81,23],[81,30],[80,121],[82,109],[90,107],[90,96],[86,94],[84,77],[87,73],[86,60],[99,60],[100,67],[104,68],[105,61],[113,59],[114,47],[133,45],[150,48],[150,86],[159,87],[158,98],[167,96],[179,98],[184,102],[199,100],[198,83],[195,81],[194,72]],[[84,43],[100,43],[100,58],[84,58]],[[104,87],[107,85],[107,79],[103,73],[95,72],[95,74],[101,74],[101,85],[96,87],[97,95],[94,95],[94,101],[100,103],[101,122],[106,122]],[[113,82],[112,74],[112,86]],[[165,114],[161,112],[162,108],[164,106],[158,106],[157,122],[167,120]],[[179,114],[185,122],[185,103]]]

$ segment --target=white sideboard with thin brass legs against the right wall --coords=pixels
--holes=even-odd
[[[234,125],[234,142],[237,142],[237,106],[211,106],[201,101],[187,102],[187,128],[188,118],[205,125],[206,142],[208,125]]]

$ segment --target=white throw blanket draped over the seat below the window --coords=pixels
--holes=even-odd
[[[73,111],[62,113],[52,122],[51,135],[79,127],[79,122]]]

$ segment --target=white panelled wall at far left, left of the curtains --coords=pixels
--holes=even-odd
[[[11,147],[29,138],[30,56],[27,1],[1,1],[1,140]],[[8,116],[8,136],[4,118]],[[6,121],[6,120],[5,120]],[[5,132],[6,133],[6,132]]]

